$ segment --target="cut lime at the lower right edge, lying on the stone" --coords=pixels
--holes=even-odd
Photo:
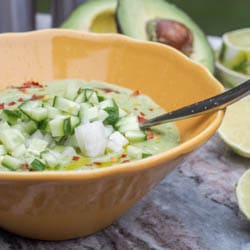
[[[250,169],[240,177],[236,196],[241,212],[250,220]]]

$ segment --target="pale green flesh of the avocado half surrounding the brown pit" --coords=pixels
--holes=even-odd
[[[208,40],[198,25],[182,10],[164,0],[120,0],[116,10],[121,33],[141,40],[149,40],[147,23],[156,19],[178,21],[193,35],[190,58],[214,72],[214,56]]]

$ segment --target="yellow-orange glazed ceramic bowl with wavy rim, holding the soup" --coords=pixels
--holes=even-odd
[[[140,89],[167,110],[223,91],[205,68],[176,50],[121,35],[68,30],[3,34],[0,51],[1,88],[28,80],[95,79]],[[178,122],[178,147],[137,162],[82,172],[0,172],[0,227],[47,240],[94,233],[211,137],[222,117],[220,111]]]

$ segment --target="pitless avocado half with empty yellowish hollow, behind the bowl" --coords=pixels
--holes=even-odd
[[[74,10],[61,27],[97,33],[116,33],[116,5],[116,0],[88,0]]]

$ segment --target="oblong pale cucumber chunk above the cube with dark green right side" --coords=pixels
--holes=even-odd
[[[60,96],[55,96],[53,106],[70,115],[77,115],[80,110],[80,105],[76,102],[67,100]]]

